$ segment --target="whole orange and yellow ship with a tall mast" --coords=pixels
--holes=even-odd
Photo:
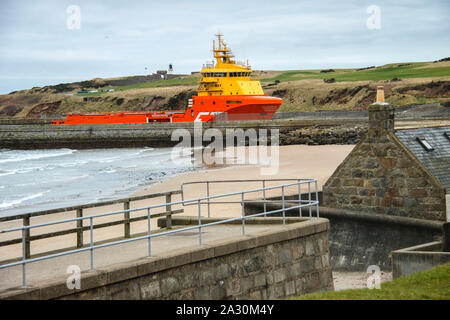
[[[218,34],[213,42],[215,63],[201,70],[198,95],[189,99],[186,110],[133,111],[67,115],[64,121],[52,124],[111,124],[195,121],[270,120],[282,99],[264,94],[258,80],[252,80],[250,66],[237,63]]]

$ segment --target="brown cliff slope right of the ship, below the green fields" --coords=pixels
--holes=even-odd
[[[267,94],[283,98],[279,112],[317,110],[367,110],[373,103],[376,87],[384,86],[385,97],[395,107],[447,102],[450,81],[408,79],[395,81],[355,81],[325,83],[302,80],[264,86]]]

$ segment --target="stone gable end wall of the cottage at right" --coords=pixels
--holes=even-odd
[[[368,134],[323,186],[323,205],[445,220],[445,189],[394,135],[392,109],[369,110]]]

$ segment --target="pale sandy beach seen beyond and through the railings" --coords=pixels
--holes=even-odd
[[[224,166],[220,168],[204,168],[194,172],[188,172],[179,174],[173,177],[169,177],[167,180],[162,182],[149,185],[148,187],[136,192],[133,196],[154,194],[170,190],[179,190],[181,184],[203,181],[203,180],[246,180],[246,179],[298,179],[298,178],[315,178],[318,180],[318,189],[321,190],[323,184],[334,172],[337,166],[345,159],[345,157],[353,149],[353,145],[323,145],[323,146],[307,146],[307,145],[292,145],[292,146],[281,146],[279,149],[279,167],[276,174],[264,175],[261,171],[260,164],[252,165],[232,165]],[[273,181],[268,182],[267,185],[279,185],[286,182]],[[249,189],[261,188],[261,182],[258,183],[220,183],[211,184],[210,194],[217,195],[223,193],[237,192]],[[286,194],[294,194],[297,192],[297,187],[291,190],[286,190]],[[304,192],[304,191],[303,191]],[[278,194],[279,195],[279,191]],[[184,197],[185,199],[193,199],[206,196],[205,184],[189,184],[184,186]],[[253,198],[261,197],[261,194],[254,194]],[[268,194],[270,196],[270,193]],[[172,201],[177,201],[181,197],[175,196]],[[251,198],[251,197],[249,197]],[[231,200],[230,198],[228,198]],[[240,196],[235,197],[235,199],[240,199]],[[165,202],[165,198],[147,199],[142,201],[137,201],[131,204],[131,208],[141,208],[154,204],[161,204]],[[173,209],[181,208],[181,206],[174,206]],[[83,214],[89,216],[92,214],[119,211],[122,210],[122,205],[112,205],[108,207],[92,208],[84,210]],[[164,211],[155,209],[155,211]],[[184,206],[184,212],[180,215],[197,215],[197,206]],[[202,215],[206,216],[206,205],[202,206]],[[132,212],[131,217],[136,217],[142,215],[142,211]],[[240,204],[217,204],[211,206],[211,216],[212,217],[233,217],[239,216],[241,214]],[[75,217],[75,212],[64,212],[59,214],[53,214],[49,216],[35,217],[31,219],[32,224],[43,223],[50,220],[64,219]],[[116,215],[114,217],[104,217],[95,219],[95,224],[114,221],[123,218],[122,215]],[[152,230],[157,228],[156,220],[152,219]],[[88,220],[85,221],[85,225],[88,224]],[[5,222],[2,224],[2,228],[9,228],[17,226],[17,222]],[[54,232],[58,230],[64,230],[67,228],[73,228],[75,223],[65,223],[61,225],[54,225],[45,228],[39,228],[38,230],[32,230],[31,235],[38,235],[47,232]],[[137,234],[147,231],[147,222],[140,221],[131,224],[131,234]],[[94,232],[94,241],[102,241],[106,239],[112,239],[123,236],[123,225],[96,229]],[[15,234],[3,234],[1,235],[1,240],[7,240],[11,238],[20,237],[19,233]],[[84,232],[84,243],[89,243],[89,232]],[[47,252],[51,250],[58,250],[63,248],[69,248],[74,246],[76,243],[76,235],[70,234],[65,236],[60,236],[55,241],[55,238],[43,239],[38,241],[33,241],[31,245],[31,254],[39,254],[42,252]],[[1,260],[9,260],[18,258],[21,255],[21,245],[11,245],[7,247],[0,248]],[[338,289],[358,287],[361,282],[361,278],[364,275],[358,275],[358,281],[355,277],[348,278],[345,273],[337,275],[339,284],[336,283]],[[0,279],[1,280],[1,279]],[[335,279],[336,282],[337,279]],[[358,282],[358,284],[356,283]],[[362,282],[361,282],[362,283]]]

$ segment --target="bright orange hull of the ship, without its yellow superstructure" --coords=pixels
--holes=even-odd
[[[270,120],[282,99],[267,95],[194,96],[192,106],[177,111],[68,114],[54,125]]]

